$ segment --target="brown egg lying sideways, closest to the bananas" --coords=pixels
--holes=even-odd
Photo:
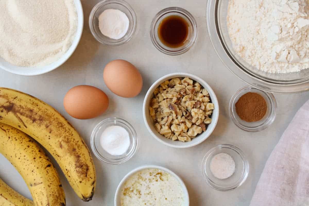
[[[63,99],[66,112],[81,120],[101,115],[107,110],[108,104],[108,96],[102,90],[88,85],[74,86]]]

